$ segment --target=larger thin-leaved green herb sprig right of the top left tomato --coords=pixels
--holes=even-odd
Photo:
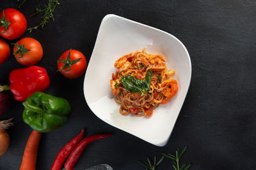
[[[39,25],[36,25],[34,27],[29,27],[27,29],[27,31],[32,32],[33,30],[38,29],[39,27],[41,27],[42,29],[44,28],[44,26],[47,24],[48,20],[50,18],[52,18],[52,20],[54,21],[54,17],[53,17],[53,12],[57,6],[57,4],[60,4],[59,0],[49,0],[48,4],[45,5],[44,9],[40,9],[40,8],[36,8],[36,13],[33,13],[32,15],[30,15],[30,17],[32,17],[33,15],[40,13],[42,11],[44,11],[44,15],[41,17],[42,20],[40,22]]]

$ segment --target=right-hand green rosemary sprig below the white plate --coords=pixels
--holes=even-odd
[[[176,152],[175,152],[175,155],[172,155],[170,153],[162,153],[162,155],[164,157],[167,157],[169,159],[172,159],[173,160],[173,164],[172,164],[172,167],[175,169],[175,170],[188,170],[189,167],[191,166],[191,164],[182,164],[182,166],[179,165],[179,162],[180,162],[180,159],[181,157],[184,155],[184,153],[186,152],[188,146],[186,146],[181,152],[179,152],[179,148],[177,148]]]

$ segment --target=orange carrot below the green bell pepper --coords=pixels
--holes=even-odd
[[[26,148],[24,150],[20,170],[35,170],[38,145],[40,143],[41,133],[35,130],[31,132]]]

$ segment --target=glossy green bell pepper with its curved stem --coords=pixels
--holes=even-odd
[[[22,103],[23,120],[38,132],[50,132],[68,120],[70,104],[66,99],[43,92],[35,92]]]

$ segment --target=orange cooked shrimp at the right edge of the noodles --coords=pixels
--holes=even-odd
[[[163,82],[162,87],[164,89],[162,90],[163,95],[165,96],[165,99],[161,104],[166,104],[172,97],[177,93],[178,91],[178,82],[177,80],[166,80]]]

